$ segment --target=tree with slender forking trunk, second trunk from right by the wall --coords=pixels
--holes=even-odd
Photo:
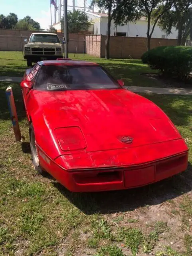
[[[172,7],[172,0],[140,0],[140,11],[147,19],[147,49],[150,50],[150,39],[158,20]],[[155,11],[156,15],[152,15]],[[150,24],[153,20],[152,29]]]

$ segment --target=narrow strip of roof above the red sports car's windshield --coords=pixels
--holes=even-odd
[[[87,62],[85,60],[42,60],[38,62],[40,65],[45,66],[99,66],[95,62]]]

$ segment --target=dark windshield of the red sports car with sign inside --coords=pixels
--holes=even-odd
[[[100,66],[42,66],[36,90],[114,89],[119,84]]]

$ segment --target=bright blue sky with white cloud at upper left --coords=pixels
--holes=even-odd
[[[59,1],[57,0],[57,3]],[[91,0],[87,0],[87,7],[90,5],[90,2]],[[67,3],[72,5],[72,0],[68,0]],[[83,0],[75,0],[75,6],[83,6]],[[68,10],[70,9],[68,8]],[[44,29],[49,28],[51,25],[50,0],[0,0],[0,14],[7,16],[10,12],[17,14],[18,19],[22,19],[27,15],[31,16]],[[53,5],[51,5],[51,12],[53,20]]]

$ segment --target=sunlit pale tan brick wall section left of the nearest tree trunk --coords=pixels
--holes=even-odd
[[[101,37],[97,35],[86,35],[86,53],[100,57],[101,56]]]

